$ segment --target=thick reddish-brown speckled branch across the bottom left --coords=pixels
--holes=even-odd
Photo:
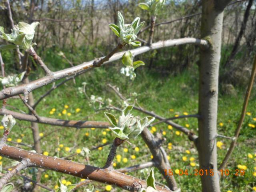
[[[44,156],[22,150],[6,144],[1,145],[0,155],[13,160],[21,161],[22,158],[27,158],[31,162],[31,166],[54,170],[65,174],[70,174],[80,178],[95,180],[98,182],[108,183],[113,186],[118,186],[128,191],[138,191],[140,188],[146,188],[146,181],[138,178],[117,172],[115,170],[105,170],[94,166],[84,165],[60,158]],[[157,190],[162,192],[170,192],[166,188],[156,186]]]

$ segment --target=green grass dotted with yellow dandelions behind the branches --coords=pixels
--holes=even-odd
[[[51,57],[46,58],[46,62],[50,62]],[[60,60],[59,60],[60,61]],[[56,62],[59,62],[56,61]],[[57,66],[64,68],[64,66]],[[82,82],[87,82],[86,92],[90,95],[101,96],[102,98],[110,98],[113,104],[120,106],[118,97],[107,88],[106,84],[111,83],[120,88],[120,92],[125,96],[129,96],[132,92],[138,94],[138,103],[147,110],[153,110],[157,114],[164,117],[172,117],[175,115],[182,115],[184,112],[188,114],[196,114],[198,110],[198,72],[196,65],[188,71],[183,72],[179,76],[161,76],[154,72],[146,70],[138,70],[136,79],[131,82],[127,78],[118,73],[120,70],[116,65],[111,65],[108,68],[102,67],[90,71],[79,78],[76,78],[76,85],[72,81],[67,82],[58,90],[54,90],[50,96],[46,97],[37,107],[37,112],[40,116],[47,116],[52,118],[62,118],[66,120],[103,120],[104,111],[95,112],[94,107],[89,105],[88,100],[83,94],[78,93],[78,87],[82,87]],[[32,74],[32,78],[36,78],[36,74]],[[48,90],[51,85],[34,91],[34,97],[39,98],[42,93]],[[238,94],[236,96],[222,95],[219,97],[218,104],[218,133],[226,136],[233,136],[236,124],[240,117],[242,109],[243,97],[245,88],[236,88]],[[26,107],[19,99],[9,99],[8,104],[16,106],[20,110],[27,111]],[[66,107],[66,114],[63,110]],[[252,96],[248,106],[248,113],[246,115],[240,138],[238,139],[238,146],[234,150],[227,169],[230,174],[221,177],[222,191],[252,191],[252,187],[256,186],[253,173],[256,172],[256,128],[248,126],[248,124],[256,125],[256,92],[252,92]],[[55,112],[51,112],[55,108]],[[76,109],[80,108],[77,112]],[[70,113],[70,114],[69,114]],[[118,115],[118,112],[112,113]],[[134,114],[139,114],[134,111]],[[144,114],[139,114],[145,116]],[[189,129],[197,132],[197,121],[194,118],[185,118],[175,120],[178,124],[186,126]],[[175,129],[164,123],[158,124],[156,132],[164,131],[166,142],[164,148],[168,154],[170,165],[174,170],[188,170],[192,176],[174,173],[178,185],[182,191],[199,192],[200,191],[200,176],[194,176],[194,170],[198,169],[198,154],[192,142],[190,142],[184,134],[176,132]],[[154,132],[154,128],[150,128]],[[154,134],[156,134],[154,132]],[[77,149],[83,147],[91,148],[98,146],[104,142],[112,142],[113,134],[108,130],[97,129],[79,129],[75,128],[60,128],[57,126],[49,126],[40,124],[41,144],[42,150],[48,152],[50,156],[68,156],[75,154]],[[22,139],[26,144],[33,144],[32,132],[30,130],[30,123],[17,121],[17,125],[13,128],[10,134],[12,141]],[[226,151],[228,150],[230,141],[222,138],[217,139],[218,148],[218,164],[221,163]],[[121,158],[115,159],[115,168],[122,168],[139,164],[140,162],[147,162],[151,160],[149,149],[145,146],[143,140],[139,137],[131,141],[132,144],[122,144],[118,148],[117,154]],[[222,144],[222,146],[221,146]],[[31,148],[24,147],[31,150]],[[93,150],[90,154],[90,164],[102,167],[106,161],[110,146],[104,146],[97,150]],[[79,151],[79,150],[78,150]],[[248,154],[252,154],[251,156]],[[132,156],[133,155],[133,156]],[[194,158],[194,160],[193,160]],[[70,160],[86,163],[84,157],[76,155]],[[6,158],[2,158],[3,167],[8,167],[12,163]],[[244,176],[234,176],[238,165],[246,166]],[[239,166],[239,167],[241,167]],[[245,167],[242,167],[245,168]],[[32,176],[32,169],[25,170],[28,175]],[[133,176],[146,179],[148,170],[138,170],[129,173]],[[161,174],[155,169],[156,180],[165,184]],[[80,178],[75,178],[66,174],[60,174],[52,171],[44,171],[41,182],[49,187],[56,186],[57,179],[64,180],[66,184],[76,184],[80,182]],[[14,180],[17,180],[15,178]],[[18,184],[16,184],[17,186]],[[94,182],[96,190],[105,191],[105,185]],[[44,191],[41,189],[41,191]],[[111,191],[120,191],[118,188],[113,188]]]

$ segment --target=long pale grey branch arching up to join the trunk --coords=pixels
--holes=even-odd
[[[152,44],[151,48],[148,46],[143,46],[140,48],[133,49],[133,50],[131,50],[131,52],[134,56],[136,56],[136,55],[148,52],[150,50],[159,49],[159,48],[163,48],[163,47],[169,47],[169,46],[177,46],[177,45],[182,45],[182,44],[194,44],[194,45],[200,45],[202,47],[208,48],[208,42],[206,40],[200,40],[200,39],[196,39],[196,38],[181,38],[181,39],[156,42],[156,43]],[[103,64],[107,64],[107,63],[116,61],[116,60],[122,58],[123,54],[124,54],[124,52],[116,53],[106,62],[104,62],[104,60],[102,61],[102,59],[104,59],[104,58],[100,59],[99,61],[92,60],[90,62],[84,62],[80,65],[77,65],[77,66],[74,66],[71,68],[53,72],[52,75],[45,76],[43,78],[39,78],[30,83],[3,89],[2,91],[0,91],[0,100],[2,100],[4,98],[12,97],[17,94],[22,94],[24,92],[24,90],[31,92],[32,90],[38,89],[42,86],[45,86],[47,84],[50,84],[50,83],[56,81],[56,80],[59,80],[59,79],[62,79],[62,78],[68,77],[68,76],[72,76],[79,72],[85,72],[91,68],[96,67],[96,65],[101,64],[101,62],[104,62]]]

